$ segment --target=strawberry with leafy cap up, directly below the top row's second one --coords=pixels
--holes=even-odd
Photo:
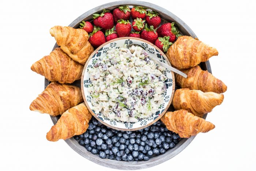
[[[129,20],[125,21],[121,19],[117,21],[116,32],[118,37],[128,37],[131,30],[132,30],[132,26]]]

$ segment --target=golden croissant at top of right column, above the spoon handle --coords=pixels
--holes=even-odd
[[[178,69],[191,68],[217,55],[217,49],[190,36],[178,37],[166,52],[172,66]]]

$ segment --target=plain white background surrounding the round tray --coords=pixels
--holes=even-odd
[[[73,151],[63,140],[50,142],[49,115],[29,110],[44,90],[44,77],[31,64],[55,43],[49,28],[67,26],[109,0],[0,2],[0,170],[112,170]],[[174,158],[155,170],[256,170],[255,1],[148,0],[181,18],[197,37],[218,49],[212,73],[227,85],[225,99],[207,116],[216,128],[200,133]]]

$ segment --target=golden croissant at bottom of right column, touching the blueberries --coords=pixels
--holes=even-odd
[[[181,138],[189,138],[199,132],[205,133],[215,128],[211,122],[182,109],[174,112],[167,111],[161,121],[167,129],[179,134]]]

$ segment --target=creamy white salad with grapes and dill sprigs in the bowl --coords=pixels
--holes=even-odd
[[[137,122],[155,114],[166,91],[163,74],[139,46],[110,49],[89,69],[92,110],[111,120]]]

